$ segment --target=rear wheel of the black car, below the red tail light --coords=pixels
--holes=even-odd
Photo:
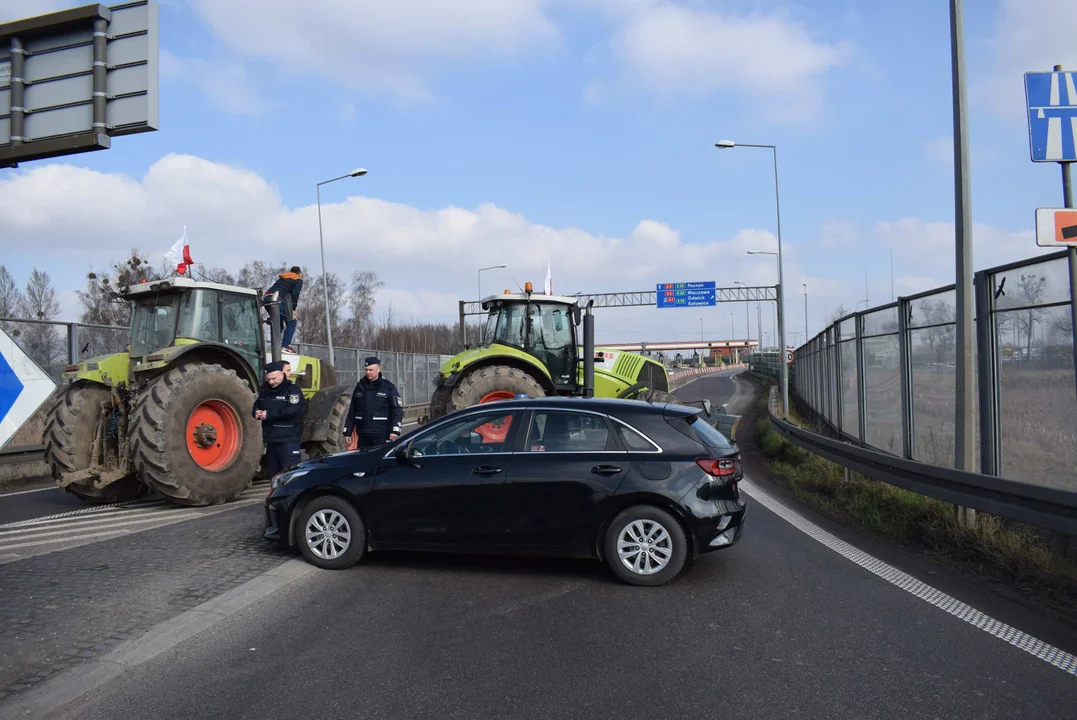
[[[653,545],[641,559],[640,546],[633,540],[645,538]],[[632,585],[656,588],[666,584],[677,576],[688,557],[688,539],[681,523],[666,510],[649,505],[618,513],[606,528],[603,545],[606,564],[614,575]],[[624,557],[623,547],[627,553]]]

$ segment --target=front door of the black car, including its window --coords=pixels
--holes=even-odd
[[[509,444],[522,412],[468,413],[416,433],[376,470],[372,536],[380,545],[467,546],[492,541],[502,527],[493,489],[509,469]]]

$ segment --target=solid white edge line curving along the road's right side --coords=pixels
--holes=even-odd
[[[976,608],[962,603],[957,598],[947,595],[925,582],[921,582],[911,575],[903,573],[892,565],[887,565],[878,557],[869,555],[844,540],[839,540],[830,533],[827,533],[822,527],[805,519],[795,510],[791,510],[780,500],[767,494],[766,491],[760,490],[751,481],[743,481],[740,486],[742,490],[747,491],[749,495],[759,503],[759,505],[767,508],[779,518],[799,530],[801,533],[805,533],[814,540],[819,540],[830,550],[834,550],[847,560],[851,560],[869,573],[878,575],[886,582],[897,585],[901,590],[919,597],[925,603],[934,605],[935,607],[949,612],[959,620],[963,620],[974,627],[979,627],[983,632],[994,635],[998,639],[1009,643],[1015,648],[1024,650],[1029,654],[1032,654],[1050,665],[1054,665],[1069,675],[1077,675],[1077,658],[1069,654],[1065,650],[1060,650],[1059,648],[1048,645],[1032,635],[1022,633],[1016,627],[1011,627],[1004,622],[999,622],[991,616],[984,615]]]

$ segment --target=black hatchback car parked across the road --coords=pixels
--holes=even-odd
[[[504,400],[279,474],[265,537],[324,568],[380,549],[558,555],[659,585],[740,540],[741,477],[697,407]]]

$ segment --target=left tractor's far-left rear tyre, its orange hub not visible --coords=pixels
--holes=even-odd
[[[109,398],[104,385],[74,382],[53,400],[45,419],[44,441],[45,461],[57,482],[65,475],[89,467],[97,423]],[[94,480],[72,482],[65,490],[88,503],[123,503],[146,493],[146,486],[134,475],[101,489],[94,486]]]

